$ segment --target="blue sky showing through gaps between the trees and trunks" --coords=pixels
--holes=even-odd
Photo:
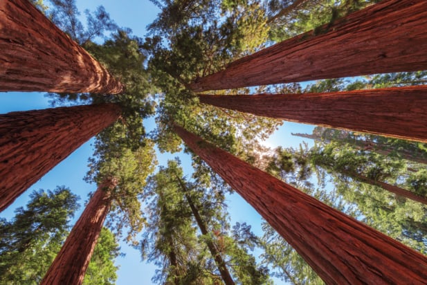
[[[149,1],[137,1],[137,0],[91,0],[83,1],[77,0],[78,8],[80,12],[85,9],[95,10],[96,7],[103,5],[107,12],[109,12],[111,19],[116,21],[119,26],[131,28],[134,35],[143,37],[146,33],[145,27],[151,23],[157,13],[158,9]],[[26,111],[31,109],[46,109],[49,108],[48,99],[44,97],[44,93],[17,93],[8,92],[0,93],[0,113],[8,113],[10,111]],[[154,120],[147,120],[145,126],[147,129],[154,127]],[[300,125],[292,122],[284,122],[284,125],[280,127],[280,130],[276,131],[269,140],[266,141],[266,145],[269,147],[276,147],[282,145],[284,147],[297,147],[301,143],[301,138],[291,136],[291,133],[311,133],[313,129],[309,125]],[[35,185],[30,187],[23,195],[19,197],[10,205],[8,209],[1,213],[1,217],[10,219],[13,216],[14,210],[22,205],[25,205],[28,201],[28,195],[33,190],[38,189],[51,189],[53,190],[57,185],[65,185],[69,187],[75,194],[80,195],[82,204],[87,199],[87,194],[91,191],[96,190],[96,185],[90,185],[84,183],[82,178],[87,172],[87,159],[93,153],[91,147],[93,140],[89,140],[76,150],[71,156],[62,161],[57,165],[51,172],[48,172],[43,178],[41,178]],[[158,156],[160,163],[165,163],[167,159],[172,159],[176,154],[162,154]],[[188,156],[184,154],[179,155],[183,160],[183,166],[185,169],[190,169],[190,160]],[[230,217],[232,223],[237,221],[246,222],[253,226],[253,230],[258,235],[261,234],[260,227],[260,216],[243,201],[237,194],[228,196]],[[82,211],[76,213],[76,217],[80,216]],[[128,284],[152,284],[151,278],[154,275],[156,267],[153,264],[147,264],[140,262],[140,255],[137,250],[130,248],[125,243],[120,243],[122,252],[125,252],[125,257],[118,257],[116,264],[120,266],[118,270],[118,282],[119,285]],[[277,279],[276,284],[284,284],[279,282]]]

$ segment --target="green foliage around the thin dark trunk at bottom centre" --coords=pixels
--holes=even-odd
[[[248,254],[257,244],[251,227],[237,224],[231,235],[228,233],[224,186],[198,175],[200,169],[195,173],[194,183],[188,183],[178,162],[169,161],[167,168],[161,167],[149,180],[146,194],[153,197],[149,206],[152,214],[142,252],[162,267],[154,281],[216,284],[219,271],[213,252],[207,251],[213,243],[236,282],[268,283],[268,270],[257,266]]]

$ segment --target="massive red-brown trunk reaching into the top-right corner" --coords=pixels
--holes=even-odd
[[[427,1],[383,0],[197,78],[193,91],[427,69]]]

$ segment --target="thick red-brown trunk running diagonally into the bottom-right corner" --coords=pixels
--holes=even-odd
[[[423,284],[427,258],[174,126],[212,167],[287,240],[327,284]]]

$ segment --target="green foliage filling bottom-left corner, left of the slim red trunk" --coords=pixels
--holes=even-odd
[[[37,284],[68,235],[78,196],[64,187],[30,195],[26,209],[0,221],[0,283]]]

